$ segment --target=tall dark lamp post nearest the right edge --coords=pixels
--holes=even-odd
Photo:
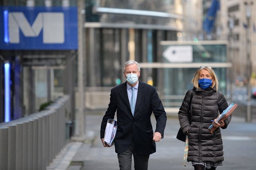
[[[250,20],[251,20],[251,6],[253,2],[250,4],[244,2],[246,6],[246,61],[247,61],[247,69],[246,69],[246,79],[247,79],[247,114],[246,114],[246,122],[251,121],[251,86],[250,86],[250,78],[252,74],[252,62],[251,62],[251,39],[250,39]]]

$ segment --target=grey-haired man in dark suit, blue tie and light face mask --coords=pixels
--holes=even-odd
[[[100,138],[104,147],[112,146],[104,142],[104,132],[108,119],[114,119],[117,111],[118,128],[114,145],[120,170],[131,170],[132,155],[135,170],[147,170],[149,155],[156,152],[155,142],[164,136],[166,112],[156,89],[138,81],[138,62],[126,62],[123,71],[127,81],[111,89],[110,103],[101,123]],[[152,112],[156,118],[154,133],[150,120]]]

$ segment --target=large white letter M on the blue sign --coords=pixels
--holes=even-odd
[[[37,37],[43,30],[44,44],[62,44],[64,38],[64,14],[62,12],[40,12],[30,25],[23,12],[10,12],[10,43],[20,43],[20,30],[25,37]]]

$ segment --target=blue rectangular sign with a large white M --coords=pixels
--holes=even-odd
[[[0,7],[0,49],[76,50],[77,8]]]

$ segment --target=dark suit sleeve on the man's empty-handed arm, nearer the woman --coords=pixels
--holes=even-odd
[[[166,112],[164,110],[164,106],[156,92],[156,89],[153,88],[152,90],[152,98],[151,98],[151,106],[154,113],[154,116],[156,118],[156,131],[159,132],[162,135],[162,138],[164,137],[164,129],[166,126]]]

